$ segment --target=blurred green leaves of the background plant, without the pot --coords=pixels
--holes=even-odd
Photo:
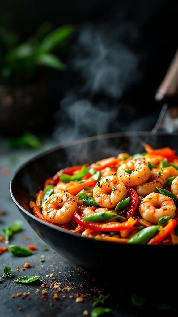
[[[45,67],[66,70],[67,66],[59,55],[67,54],[73,32],[71,24],[52,30],[51,23],[44,22],[34,36],[19,43],[17,32],[0,26],[1,83],[29,82],[38,77]]]

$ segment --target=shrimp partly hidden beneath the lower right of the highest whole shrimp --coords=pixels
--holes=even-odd
[[[159,175],[156,169],[151,171],[151,177],[147,183],[138,185],[136,187],[137,194],[145,197],[151,192],[158,192],[156,187],[162,188],[166,183],[166,178],[163,174]]]

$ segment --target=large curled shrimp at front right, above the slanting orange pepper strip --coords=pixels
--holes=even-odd
[[[158,223],[158,220],[164,216],[174,218],[174,200],[159,193],[151,193],[141,200],[139,212],[145,220],[151,223]]]

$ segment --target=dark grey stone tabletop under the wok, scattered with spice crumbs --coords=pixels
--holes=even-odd
[[[42,150],[48,149],[53,145],[53,142],[48,140],[43,145]],[[0,280],[1,316],[80,317],[83,316],[84,310],[87,310],[90,316],[94,308],[92,306],[94,297],[98,297],[100,293],[103,295],[110,294],[104,305],[112,309],[112,313],[106,315],[108,317],[141,317],[160,314],[165,314],[165,316],[169,314],[171,316],[172,313],[175,314],[174,294],[171,294],[173,292],[171,287],[171,275],[173,273],[169,273],[169,269],[164,268],[164,275],[161,275],[160,268],[153,265],[149,272],[145,272],[145,260],[141,257],[140,267],[137,272],[132,271],[131,262],[130,271],[125,272],[121,260],[118,263],[111,263],[111,269],[107,272],[102,272],[102,268],[99,268],[98,271],[90,271],[69,262],[51,248],[48,248],[48,251],[44,251],[44,248],[47,247],[46,243],[41,240],[22,217],[12,201],[9,191],[10,179],[16,169],[22,163],[38,154],[41,149],[40,151],[10,150],[6,146],[5,141],[0,139],[0,151],[0,210],[5,211],[3,216],[0,215],[0,235],[2,235],[1,230],[4,226],[20,219],[23,222],[23,228],[19,233],[10,237],[9,245],[18,244],[26,247],[29,244],[34,244],[37,246],[37,250],[34,251],[32,256],[16,257],[10,251],[0,255],[0,275],[2,275],[5,266],[10,266],[12,268],[11,273],[15,274],[14,278],[5,277]],[[3,168],[8,168],[9,174],[3,175]],[[28,240],[24,238],[25,236],[28,236]],[[8,244],[0,243],[0,246],[4,245],[9,246]],[[44,256],[45,262],[40,262],[42,256]],[[25,262],[30,263],[30,268],[23,271],[21,268]],[[16,271],[17,266],[20,266],[18,272]],[[59,287],[62,291],[57,291],[57,289],[50,287],[54,281],[52,277],[46,277],[46,275],[52,273],[55,276],[55,281],[61,283]],[[33,285],[13,282],[14,279],[25,275],[40,276],[41,281],[46,282],[49,288],[42,288],[42,282]],[[64,288],[66,287],[71,289],[65,291]],[[41,294],[44,289],[48,291],[45,298]],[[22,295],[24,292],[29,292],[29,296],[22,299],[20,296],[16,296],[18,292],[22,293]],[[54,300],[54,293],[58,293],[59,300]],[[84,296],[83,302],[76,303],[75,295],[77,293]],[[15,295],[15,298],[11,297],[12,294]],[[145,298],[145,304],[142,307],[132,304],[131,297],[133,294]],[[73,298],[69,296],[73,296]],[[158,309],[160,304],[169,304],[173,308],[170,310]],[[20,307],[22,311],[19,311]]]

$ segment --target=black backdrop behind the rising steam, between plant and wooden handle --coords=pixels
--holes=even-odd
[[[41,133],[64,142],[154,127],[154,96],[177,49],[177,1],[1,0],[0,17],[22,41],[44,21],[75,25],[68,70],[48,71]]]

